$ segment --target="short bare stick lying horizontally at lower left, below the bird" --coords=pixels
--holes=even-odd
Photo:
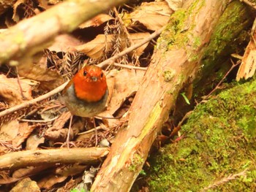
[[[44,164],[95,164],[108,155],[107,147],[26,150],[0,156],[0,170],[18,169]]]

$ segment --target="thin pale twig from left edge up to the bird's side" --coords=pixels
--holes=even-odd
[[[67,82],[65,82],[64,84],[62,84],[58,88],[53,89],[53,91],[50,91],[49,93],[46,93],[46,94],[44,94],[42,96],[37,97],[36,99],[32,99],[30,101],[26,101],[26,102],[24,102],[22,104],[18,104],[18,105],[14,106],[14,107],[11,107],[11,108],[7,109],[7,110],[4,110],[4,111],[0,112],[0,117],[2,117],[4,115],[8,115],[8,114],[10,114],[12,112],[15,112],[17,110],[23,109],[25,107],[29,107],[29,106],[31,106],[33,104],[36,104],[38,101],[42,101],[44,99],[47,99],[48,97],[53,96],[56,93],[59,93],[59,91],[62,91],[66,85],[67,85]]]

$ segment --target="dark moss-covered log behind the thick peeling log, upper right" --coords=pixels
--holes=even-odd
[[[241,1],[232,1],[228,4],[203,53],[200,75],[194,82],[195,96],[208,94],[222,79],[232,66],[231,54],[244,54],[253,20],[252,10],[246,4]]]

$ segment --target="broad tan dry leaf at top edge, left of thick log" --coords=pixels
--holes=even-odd
[[[170,19],[173,10],[165,1],[154,1],[142,3],[134,12],[130,14],[132,21],[138,21],[149,30],[156,31],[165,26]]]

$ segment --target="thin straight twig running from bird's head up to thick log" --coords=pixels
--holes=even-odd
[[[143,39],[143,41],[135,44],[135,45],[132,45],[131,47],[127,48],[126,50],[123,50],[121,51],[120,53],[114,55],[113,57],[111,58],[108,58],[107,60],[101,62],[100,64],[98,64],[99,67],[104,67],[104,66],[107,66],[107,65],[110,65],[110,64],[113,64],[116,59],[118,58],[121,58],[122,56],[126,55],[127,53],[130,53],[132,50],[135,50],[137,49],[138,47],[146,44],[147,42],[149,42],[151,39],[154,39],[155,37],[159,36],[159,34],[162,33],[162,31],[164,30],[165,26],[160,28],[159,30],[157,31],[154,31],[153,34],[150,34],[148,37],[146,37],[145,39]]]

